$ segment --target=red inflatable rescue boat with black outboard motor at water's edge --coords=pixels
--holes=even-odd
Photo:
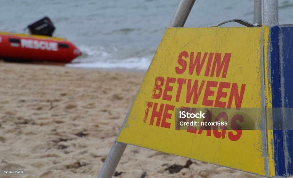
[[[49,18],[42,18],[28,28],[33,35],[0,32],[1,59],[69,63],[81,55],[68,40],[52,37],[55,27]]]

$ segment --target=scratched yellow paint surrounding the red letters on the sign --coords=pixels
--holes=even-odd
[[[147,102],[170,104],[175,107],[207,107],[201,102],[203,94],[196,105],[185,102],[184,92],[179,102],[176,102],[175,90],[168,92],[173,95],[171,101],[152,98],[155,79],[159,76],[165,79],[175,77],[231,82],[240,86],[246,84],[241,108],[262,108],[262,42],[262,27],[167,29],[129,115],[121,127],[117,141],[267,176],[267,138],[261,130],[243,130],[239,140],[231,141],[227,136],[225,139],[207,136],[206,131],[200,135],[186,130],[176,130],[175,111],[169,112],[172,114],[168,120],[171,123],[170,129],[156,127],[155,124],[149,125],[149,118],[146,123],[143,121]],[[175,67],[179,66],[177,59],[181,51],[194,51],[195,55],[197,52],[214,52],[222,55],[231,53],[226,78],[204,76],[204,73],[199,76],[189,75],[188,72],[177,74]],[[203,69],[205,68],[206,64],[203,66]],[[186,87],[182,90],[186,91]],[[215,100],[215,95],[209,96],[209,99]],[[228,102],[228,97],[221,100]]]

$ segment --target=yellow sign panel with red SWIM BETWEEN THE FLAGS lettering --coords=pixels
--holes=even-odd
[[[186,108],[265,107],[263,39],[261,27],[168,28],[117,141],[268,175],[266,131],[242,129],[243,117],[208,111],[203,122],[228,126],[178,125]]]

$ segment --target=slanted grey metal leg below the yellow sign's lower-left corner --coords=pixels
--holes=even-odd
[[[98,178],[111,178],[127,144],[115,141],[105,163],[98,175]]]

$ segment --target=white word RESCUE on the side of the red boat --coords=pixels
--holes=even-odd
[[[47,51],[58,51],[58,43],[30,39],[21,39],[21,47],[29,49],[41,49]]]

